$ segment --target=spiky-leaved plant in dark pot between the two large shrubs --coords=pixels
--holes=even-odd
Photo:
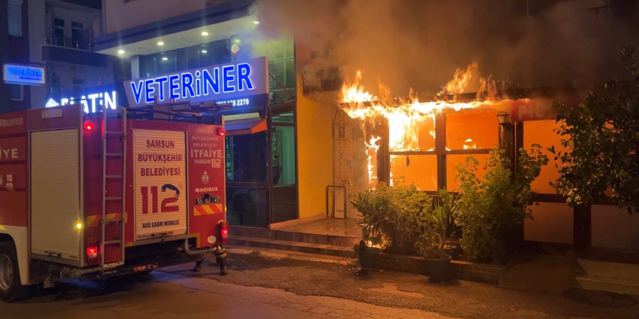
[[[446,253],[446,229],[457,206],[452,194],[445,189],[440,189],[439,195],[440,198],[431,207],[426,207],[419,216],[421,235],[415,246],[424,256],[429,280],[443,282],[450,279],[452,259]]]

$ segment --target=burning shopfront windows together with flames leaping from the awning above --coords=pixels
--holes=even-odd
[[[458,189],[454,168],[470,154],[480,161],[477,175],[482,178],[488,150],[499,143],[495,109],[510,101],[498,101],[496,82],[475,77],[476,69],[477,64],[471,64],[466,70],[457,70],[435,100],[426,102],[419,101],[413,91],[408,99],[392,98],[383,85],[379,97],[371,94],[359,84],[359,71],[353,82],[344,82],[340,106],[352,119],[364,123],[362,142],[366,144],[369,187],[404,177],[405,182],[415,182],[422,190]],[[475,83],[479,87],[476,99],[463,100],[468,97],[458,95],[465,94],[473,80],[479,80],[475,81],[479,82]],[[440,123],[443,127],[437,127]],[[366,129],[371,126],[374,130]],[[447,164],[438,167],[438,163]],[[378,176],[378,165],[383,165],[379,172],[386,176]],[[445,184],[438,178],[444,175]]]

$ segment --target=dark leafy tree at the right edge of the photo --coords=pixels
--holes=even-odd
[[[639,66],[633,59],[635,49],[622,47],[618,59],[634,81],[615,81],[591,91],[577,107],[555,103],[558,108],[555,130],[569,151],[550,152],[561,159],[557,193],[567,203],[592,204],[596,198],[610,195],[628,212],[639,209]]]

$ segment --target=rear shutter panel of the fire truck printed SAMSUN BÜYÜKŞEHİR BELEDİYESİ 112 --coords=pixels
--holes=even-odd
[[[181,235],[187,230],[186,135],[135,130],[135,235]]]

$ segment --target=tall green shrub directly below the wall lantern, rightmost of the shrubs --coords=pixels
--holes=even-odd
[[[483,181],[477,177],[479,161],[473,156],[468,156],[456,167],[459,202],[454,219],[462,228],[461,248],[466,258],[480,261],[504,259],[514,226],[532,218],[528,206],[536,194],[530,183],[547,163],[548,156],[541,153],[540,145],[534,144],[530,154],[520,149],[514,181],[511,181],[510,160],[504,149],[499,147],[490,152]]]

